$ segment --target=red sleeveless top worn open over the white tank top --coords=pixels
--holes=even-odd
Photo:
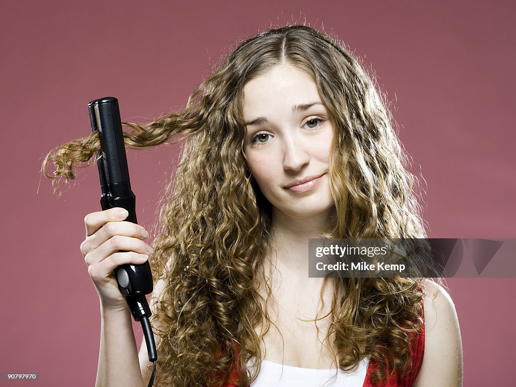
[[[378,369],[378,366],[375,366],[373,363],[369,362],[369,365],[367,367],[367,374],[365,376],[364,384],[362,387],[411,387],[414,384],[414,381],[416,380],[417,374],[420,372],[421,365],[423,364],[423,355],[425,351],[425,311],[423,309],[423,301],[422,304],[422,311],[421,311],[421,317],[423,318],[423,326],[421,327],[421,330],[419,332],[412,332],[409,333],[410,337],[410,354],[412,357],[412,369],[411,371],[405,375],[402,378],[397,378],[396,373],[393,373],[389,377],[388,376],[384,382],[379,384],[373,384],[371,382],[370,376],[375,370]],[[238,349],[236,354],[238,355]],[[387,363],[389,365],[389,363]],[[233,382],[235,380],[238,380],[238,370],[235,362],[235,367],[233,367],[233,370],[231,371],[229,381],[224,384],[223,387],[236,387],[236,384]]]

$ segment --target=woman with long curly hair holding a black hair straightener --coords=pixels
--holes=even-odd
[[[425,237],[389,114],[338,42],[307,26],[266,31],[183,111],[126,125],[129,146],[178,134],[186,143],[153,252],[120,208],[85,218],[81,251],[102,312],[97,385],[149,378],[145,345],[142,375],[134,366],[131,317],[111,274],[149,256],[155,385],[461,385],[457,316],[441,286],[307,276],[309,238]],[[44,167],[53,159],[56,176],[73,178],[74,163],[98,149],[91,135]]]

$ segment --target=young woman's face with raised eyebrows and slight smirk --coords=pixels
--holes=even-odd
[[[246,84],[243,107],[248,165],[273,214],[331,212],[333,125],[312,77],[292,65],[273,67]]]

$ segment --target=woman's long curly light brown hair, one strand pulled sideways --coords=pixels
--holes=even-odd
[[[158,336],[156,385],[223,385],[236,366],[238,385],[260,371],[261,338],[273,297],[264,264],[271,250],[270,204],[245,162],[243,88],[280,63],[307,72],[334,125],[330,186],[336,217],[332,238],[424,238],[417,179],[404,165],[383,96],[338,40],[308,26],[264,31],[239,44],[191,94],[187,106],[144,125],[124,123],[129,147],[184,141],[168,183],[153,241],[151,266],[162,284],[152,326]],[[100,149],[98,135],[72,141],[46,156],[43,172],[59,185],[73,167]],[[55,172],[49,172],[53,162]],[[80,165],[83,166],[83,165]],[[372,375],[411,370],[410,334],[422,328],[421,278],[333,281],[326,340],[335,364],[352,370],[370,356]],[[267,297],[258,291],[266,284]],[[321,291],[322,294],[322,291]],[[322,297],[322,296],[321,296]],[[252,363],[257,367],[247,367]],[[245,371],[247,369],[247,372]],[[252,370],[251,370],[252,369]]]

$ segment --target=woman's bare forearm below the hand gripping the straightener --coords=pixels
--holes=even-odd
[[[131,312],[111,311],[101,304],[99,367],[95,387],[142,387]]]

